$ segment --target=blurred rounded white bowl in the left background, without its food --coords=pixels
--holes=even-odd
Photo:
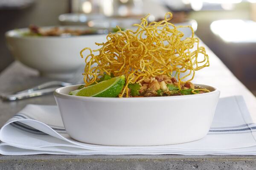
[[[51,27],[42,27],[49,29]],[[85,29],[81,26],[60,28]],[[84,64],[79,52],[84,47],[98,48],[95,42],[106,41],[106,34],[73,37],[23,36],[28,28],[6,32],[9,50],[17,60],[40,71],[42,76],[70,78],[79,66]]]

